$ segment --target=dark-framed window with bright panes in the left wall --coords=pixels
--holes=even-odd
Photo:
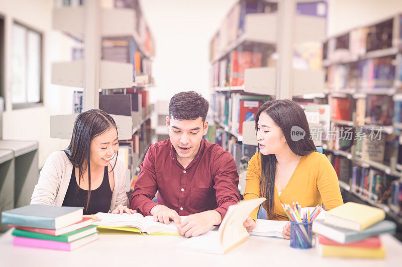
[[[42,35],[14,23],[12,41],[13,109],[36,106],[42,101]]]

